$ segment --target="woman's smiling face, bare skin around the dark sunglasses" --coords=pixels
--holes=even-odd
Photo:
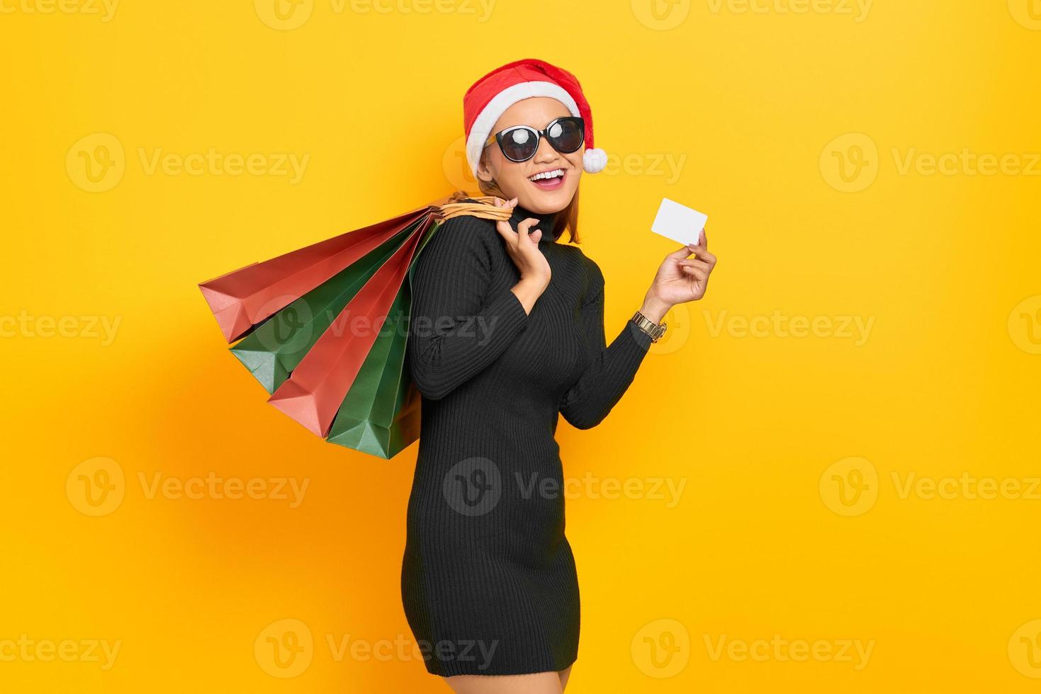
[[[550,121],[570,114],[566,106],[550,97],[522,99],[503,112],[492,127],[491,134],[515,125],[541,130]],[[499,149],[499,144],[492,142],[484,149],[477,176],[486,182],[493,179],[507,200],[516,198],[517,204],[529,211],[539,214],[559,212],[572,202],[579,187],[584,153],[583,145],[576,152],[561,154],[553,149],[545,137],[541,137],[535,156],[527,161],[510,161]],[[531,180],[535,174],[555,170],[562,171],[564,175],[537,182]]]

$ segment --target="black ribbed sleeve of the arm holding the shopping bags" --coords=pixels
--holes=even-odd
[[[430,400],[481,372],[527,325],[528,312],[509,287],[488,295],[497,233],[477,217],[449,220],[416,260],[408,364]]]

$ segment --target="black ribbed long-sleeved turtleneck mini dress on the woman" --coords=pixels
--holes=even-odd
[[[537,217],[552,278],[530,314],[496,223],[449,220],[416,260],[407,364],[423,395],[401,591],[427,670],[520,674],[578,656],[579,586],[564,537],[558,413],[599,423],[651,337],[604,337],[604,276]]]

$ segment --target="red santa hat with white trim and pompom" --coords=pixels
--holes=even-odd
[[[531,97],[552,97],[564,104],[572,115],[585,122],[583,169],[589,174],[603,171],[607,152],[593,149],[592,112],[575,75],[544,60],[525,58],[489,72],[466,89],[462,98],[463,128],[466,131],[466,161],[477,177],[477,164],[491,128],[503,112]]]

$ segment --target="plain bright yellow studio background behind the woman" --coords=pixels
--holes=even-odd
[[[607,334],[675,248],[649,231],[662,197],[709,214],[720,259],[604,423],[561,420],[565,475],[599,481],[567,499],[582,589],[567,691],[1037,691],[1032,1],[316,0],[280,20],[264,0],[107,18],[0,0],[0,646],[120,644],[107,668],[0,647],[0,690],[448,691],[414,657],[329,645],[411,639],[415,446],[381,461],[265,404],[196,284],[445,195],[465,88],[540,57],[578,75],[613,155],[582,183]],[[122,156],[99,149],[112,138]],[[149,165],[210,148],[308,159],[298,181]],[[948,158],[930,175],[920,157],[964,150],[1033,174]],[[115,166],[92,182],[84,154]],[[80,473],[99,469],[124,477],[94,516]],[[290,508],[142,484],[210,473],[308,487]],[[1020,493],[943,483],[963,473]],[[598,486],[656,479],[685,485],[676,504]],[[300,628],[285,619],[313,639],[299,673],[254,651],[264,629]],[[713,657],[775,635],[871,651]]]

